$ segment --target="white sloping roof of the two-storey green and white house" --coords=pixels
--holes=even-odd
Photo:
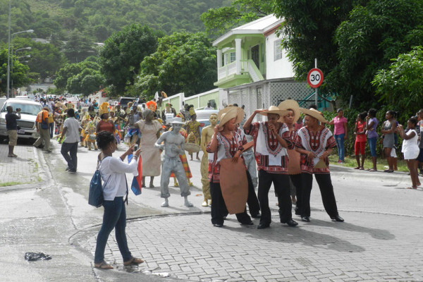
[[[241,25],[240,27],[235,27],[233,30],[226,32],[226,34],[222,35],[218,39],[214,40],[213,46],[218,45],[219,43],[225,41],[229,37],[233,35],[254,35],[254,34],[264,34],[266,31],[273,29],[277,25],[280,25],[282,20],[280,18],[276,18],[274,14],[269,16],[265,16],[263,18],[259,18],[254,20],[250,23],[246,23],[245,25]]]

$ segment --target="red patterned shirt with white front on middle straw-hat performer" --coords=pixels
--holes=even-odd
[[[269,130],[267,121],[252,123],[245,134],[254,138],[254,152],[257,161],[257,170],[264,170],[268,173],[288,173],[288,152],[279,143],[276,136]],[[285,123],[281,123],[278,135],[288,143],[288,149],[294,145]]]

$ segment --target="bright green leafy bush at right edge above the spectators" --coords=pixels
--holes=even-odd
[[[392,61],[389,68],[376,73],[372,85],[379,101],[395,105],[404,121],[422,108],[423,47],[413,47]]]

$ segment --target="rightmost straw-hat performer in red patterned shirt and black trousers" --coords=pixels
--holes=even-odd
[[[335,139],[331,130],[320,123],[327,123],[323,115],[315,109],[302,109],[305,114],[305,126],[300,128],[295,137],[295,149],[300,153],[301,158],[301,183],[302,192],[300,214],[302,221],[309,222],[310,216],[310,194],[312,192],[313,174],[321,192],[321,200],[324,209],[334,221],[344,221],[338,214],[335,194],[329,171],[329,159],[333,147],[336,147]]]

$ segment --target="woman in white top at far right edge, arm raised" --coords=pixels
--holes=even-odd
[[[417,145],[416,125],[417,118],[410,118],[407,121],[407,133],[405,133],[403,125],[398,125],[398,133],[403,138],[403,149],[401,149],[401,152],[404,153],[404,159],[407,161],[412,182],[412,187],[408,187],[407,189],[417,189],[417,186],[421,185],[419,174],[417,173],[418,161],[416,161],[416,158],[419,156],[419,146]]]

